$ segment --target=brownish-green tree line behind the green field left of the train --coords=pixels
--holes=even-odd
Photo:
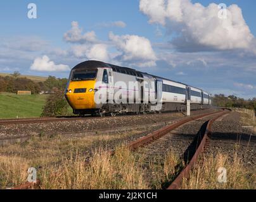
[[[12,76],[0,76],[0,92],[16,93],[18,90],[29,90],[32,94],[51,92],[53,88],[64,90],[67,78],[49,76],[46,81],[35,82],[28,78]]]

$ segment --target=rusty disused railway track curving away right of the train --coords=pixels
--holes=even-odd
[[[182,179],[188,177],[189,171],[193,169],[203,149],[207,146],[207,136],[208,133],[210,133],[213,122],[228,113],[228,110],[224,110],[223,112],[214,112],[185,118],[148,134],[148,136],[144,136],[127,146],[131,150],[139,150],[137,152],[141,156],[143,153],[146,153],[144,160],[145,165],[143,165],[143,167],[146,168],[146,172],[148,172],[146,175],[150,178],[149,181],[154,173],[153,170],[150,170],[151,163],[163,163],[163,154],[167,153],[168,150],[178,153],[181,161],[176,165],[176,177],[172,179],[172,184],[170,184],[170,182],[164,182],[162,183],[162,187],[165,189],[179,189],[182,184]],[[193,122],[190,128],[189,122]],[[181,126],[188,134],[185,134],[184,131],[179,133]],[[143,149],[141,149],[141,147],[143,147]]]

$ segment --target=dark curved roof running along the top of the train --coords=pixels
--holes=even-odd
[[[101,61],[85,61],[85,62],[81,62],[81,63],[77,64],[73,69],[92,68],[92,67],[94,67],[94,68],[112,68],[114,71],[120,70],[121,73],[122,73],[123,70],[125,70],[125,71],[132,72],[132,73],[134,73],[134,74],[136,74],[136,75],[138,75],[139,77],[142,77],[142,78],[143,78],[143,74],[148,74],[148,73],[144,73],[144,72],[141,72],[141,71],[137,71],[136,69],[121,67],[121,66],[117,66],[117,65],[114,65],[114,64],[109,64],[109,63],[106,63],[106,62],[101,62]],[[173,81],[173,80],[169,80],[167,78],[162,78],[161,76],[155,76],[155,75],[152,75],[152,74],[148,74],[148,75],[153,76],[154,78],[157,78],[157,79]],[[180,83],[182,85],[186,85],[186,86],[189,86],[189,87],[196,88],[194,86],[187,85],[186,83],[181,83],[181,82],[178,82],[178,81],[173,81],[173,82]],[[196,88],[196,89],[202,90],[200,88]],[[202,90],[202,91],[205,92],[204,90]]]

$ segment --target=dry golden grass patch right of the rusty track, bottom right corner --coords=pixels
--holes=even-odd
[[[218,182],[219,168],[227,170],[227,182]],[[246,168],[241,158],[234,153],[233,159],[219,153],[217,156],[202,157],[195,169],[191,171],[189,180],[183,181],[182,189],[255,189],[256,173]]]

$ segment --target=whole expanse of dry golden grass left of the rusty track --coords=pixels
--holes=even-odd
[[[136,166],[131,151],[117,146],[115,155],[110,156],[103,150],[111,141],[134,133],[138,132],[81,138],[34,137],[22,144],[1,146],[0,188],[26,182],[27,169],[35,167],[42,182],[40,189],[147,189],[143,169]],[[90,152],[91,162],[86,165]]]

